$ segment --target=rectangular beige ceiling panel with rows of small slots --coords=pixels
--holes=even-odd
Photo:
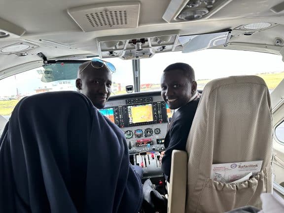
[[[136,1],[93,4],[68,9],[68,14],[85,32],[137,28],[140,3]]]

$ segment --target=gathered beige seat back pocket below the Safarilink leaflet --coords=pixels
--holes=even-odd
[[[263,192],[267,192],[267,175],[263,171],[240,183],[206,178],[196,212],[221,213],[247,205],[261,207],[260,194]]]

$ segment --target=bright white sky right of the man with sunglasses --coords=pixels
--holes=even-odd
[[[113,80],[132,81],[132,74],[127,74],[132,69],[131,61],[112,59],[111,62],[117,67]],[[158,53],[150,59],[141,59],[141,83],[160,83],[162,71],[176,62],[189,64],[194,69],[197,80],[284,71],[282,56],[267,53],[223,49],[201,50],[193,53]]]

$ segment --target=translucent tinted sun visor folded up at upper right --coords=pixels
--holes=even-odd
[[[227,44],[229,42],[230,35],[231,32],[227,31],[193,36],[179,36],[178,40],[183,47],[182,53],[188,53]]]

